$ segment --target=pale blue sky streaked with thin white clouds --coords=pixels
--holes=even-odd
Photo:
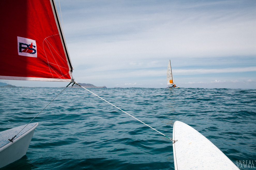
[[[179,87],[256,89],[256,1],[59,1],[79,83],[166,88],[170,60]]]

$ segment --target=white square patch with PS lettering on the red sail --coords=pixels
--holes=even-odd
[[[37,57],[35,40],[29,39],[29,38],[23,38],[23,37],[17,37],[17,40],[18,40],[19,55],[27,56],[27,57]]]

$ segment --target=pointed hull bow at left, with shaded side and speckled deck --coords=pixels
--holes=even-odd
[[[7,141],[14,137],[22,128],[24,128],[24,126],[25,125],[18,126],[16,128],[0,132],[0,168],[26,155],[28,146],[38,123],[29,124],[21,131],[20,135],[17,135],[17,137],[14,138],[13,142]]]

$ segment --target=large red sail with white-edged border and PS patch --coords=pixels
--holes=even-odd
[[[54,0],[1,2],[0,79],[71,81]]]

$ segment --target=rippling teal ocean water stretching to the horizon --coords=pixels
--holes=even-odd
[[[28,123],[62,89],[0,88],[0,131]],[[189,124],[234,164],[247,160],[240,169],[256,168],[256,90],[90,90],[169,137],[175,121]],[[26,156],[2,169],[174,169],[169,139],[82,88],[65,89],[33,122]]]

